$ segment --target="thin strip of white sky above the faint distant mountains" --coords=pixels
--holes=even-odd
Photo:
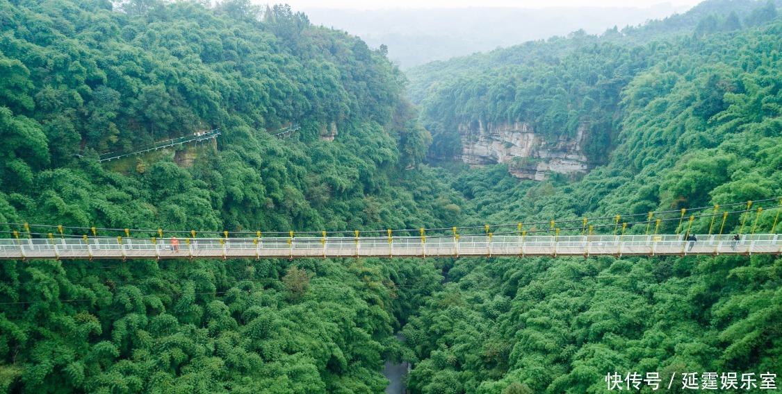
[[[540,9],[545,7],[648,7],[670,3],[675,7],[691,7],[701,0],[286,0],[292,9],[394,9],[394,8],[463,8],[463,7],[517,7]]]

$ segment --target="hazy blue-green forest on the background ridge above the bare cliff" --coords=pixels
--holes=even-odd
[[[620,93],[640,71],[680,51],[714,45],[708,42],[714,34],[762,26],[777,16],[773,2],[730,4],[735,9],[705,2],[640,28],[608,30],[600,37],[579,31],[569,38],[411,69],[411,96],[421,101],[422,119],[434,137],[432,157],[461,153],[459,125],[521,121],[547,140],[575,137],[586,126],[584,154],[590,162],[605,164],[619,133]],[[696,22],[699,15],[705,16]],[[687,26],[691,29],[676,35]]]

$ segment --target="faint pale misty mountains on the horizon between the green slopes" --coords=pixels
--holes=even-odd
[[[389,59],[403,69],[476,51],[583,29],[590,34],[636,26],[687,7],[669,3],[649,8],[557,7],[546,9],[305,9],[312,23],[346,30],[371,48],[386,44]]]

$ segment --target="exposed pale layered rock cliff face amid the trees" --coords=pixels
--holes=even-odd
[[[560,137],[554,143],[536,134],[527,122],[459,126],[461,161],[471,165],[508,164],[519,179],[546,179],[546,173],[587,172],[590,164],[581,149],[586,126],[575,138]]]

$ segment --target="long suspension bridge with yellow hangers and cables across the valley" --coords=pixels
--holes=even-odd
[[[769,199],[762,203],[777,201]],[[142,229],[97,229],[63,225],[0,223],[20,230],[0,231],[11,236],[0,239],[0,259],[181,259],[181,258],[329,258],[329,257],[534,257],[534,256],[665,256],[719,254],[782,254],[782,234],[777,227],[779,205],[771,232],[756,232],[764,208],[752,209],[752,201],[738,211],[704,213],[685,217],[687,209],[650,212],[641,215],[605,216],[551,222],[484,225],[450,229],[374,230],[354,232],[182,232]],[[726,204],[730,207],[737,204]],[[680,215],[671,215],[673,213]],[[752,215],[754,214],[754,215]],[[621,222],[647,216],[646,220]],[[654,218],[655,215],[662,218]],[[723,234],[726,221],[734,216],[737,233]],[[668,217],[670,216],[670,217]],[[752,219],[752,216],[755,216]],[[720,218],[720,220],[716,220]],[[696,219],[708,232],[691,232]],[[590,221],[605,222],[589,225]],[[770,221],[770,220],[769,220]],[[571,225],[571,223],[577,225]],[[661,225],[673,222],[676,233],[658,233]],[[673,227],[673,224],[669,225]],[[551,228],[547,228],[548,226]],[[558,225],[565,225],[558,227]],[[698,225],[698,224],[696,224]],[[527,226],[528,229],[525,229]],[[541,228],[545,226],[546,228]],[[32,232],[30,228],[52,229]],[[665,227],[665,225],[663,225]],[[645,233],[641,229],[645,228]],[[712,230],[719,228],[718,233]],[[752,229],[744,233],[745,229]],[[654,229],[654,232],[651,230]],[[66,234],[66,230],[70,232]],[[475,233],[475,231],[481,231]],[[611,232],[612,234],[599,233]],[[73,232],[86,232],[82,235]],[[120,232],[123,236],[99,236]],[[580,234],[579,234],[580,232]],[[716,232],[716,231],[714,231]],[[152,236],[143,236],[143,234]],[[411,233],[415,233],[411,236]],[[131,236],[133,234],[133,236]]]

